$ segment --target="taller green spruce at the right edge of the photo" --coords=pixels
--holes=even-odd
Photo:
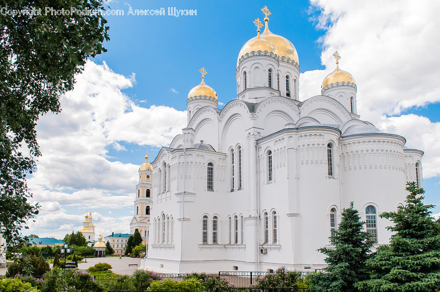
[[[376,256],[367,261],[369,280],[358,283],[360,291],[438,291],[440,287],[440,234],[438,225],[421,196],[424,191],[408,182],[405,206],[397,212],[379,216],[393,222],[390,245],[379,247]]]

